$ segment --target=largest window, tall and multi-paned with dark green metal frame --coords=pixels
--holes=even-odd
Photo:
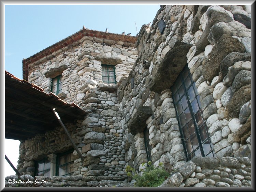
[[[194,156],[214,157],[208,128],[202,117],[195,82],[186,66],[171,87],[187,160]]]

